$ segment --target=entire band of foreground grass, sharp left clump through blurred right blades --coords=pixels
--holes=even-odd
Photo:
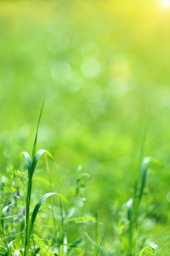
[[[82,173],[81,166],[78,166],[72,200],[68,200],[58,191],[53,192],[47,156],[54,163],[55,161],[48,150],[40,149],[36,152],[38,127],[32,157],[26,151],[20,153],[20,165],[21,158],[24,156],[27,173],[21,171],[21,168],[15,170],[13,166],[10,166],[7,168],[6,176],[1,177],[0,255],[157,255],[156,242],[148,243],[148,237],[143,236],[141,232],[142,222],[145,219],[145,204],[142,197],[145,195],[146,181],[150,171],[160,166],[160,162],[154,157],[143,159],[132,198],[124,203],[120,210],[112,209],[104,231],[100,231],[101,223],[98,220],[97,211],[95,215],[84,212],[86,201],[84,188],[91,176],[88,173]],[[42,195],[37,202],[32,193],[33,175],[43,154],[49,176],[50,191]],[[58,204],[56,201],[54,203],[53,195],[57,195]],[[51,197],[50,202],[48,201],[49,197]],[[44,202],[46,200],[47,202]],[[75,227],[75,224],[78,226]],[[107,231],[110,224],[113,226],[112,244],[107,243]]]

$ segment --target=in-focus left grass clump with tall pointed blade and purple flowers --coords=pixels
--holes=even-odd
[[[44,103],[43,103],[44,104]],[[43,108],[43,105],[42,105]],[[38,121],[38,127],[40,123],[40,118],[42,114],[42,109],[40,112],[40,117]],[[50,180],[50,190],[51,192],[44,194],[39,202],[32,207],[32,183],[33,175],[35,173],[35,168],[38,164],[40,157],[46,154],[50,159],[54,159],[51,153],[47,150],[40,149],[36,153],[37,135],[38,127],[36,131],[32,157],[26,151],[20,153],[20,161],[22,156],[26,159],[27,175],[24,171],[14,170],[13,166],[7,169],[7,176],[1,177],[1,251],[4,252],[0,255],[4,256],[29,256],[29,255],[67,255],[69,252],[77,251],[78,255],[83,255],[84,251],[78,247],[79,243],[82,242],[84,237],[79,237],[73,243],[67,243],[66,225],[71,222],[84,223],[84,222],[95,222],[95,218],[91,216],[81,216],[78,217],[74,214],[75,207],[73,207],[73,202],[69,202],[64,195],[57,192],[52,192],[52,184]],[[46,167],[49,174],[49,167],[47,158],[45,157]],[[79,195],[82,196],[82,190],[85,186],[83,176],[86,176],[86,182],[89,179],[87,173],[80,174],[80,168],[77,171],[78,178],[76,182],[75,198]],[[50,179],[50,174],[49,174]],[[25,192],[26,187],[26,192]],[[25,195],[26,202],[24,202],[23,197]],[[48,213],[52,219],[48,220],[48,225],[50,230],[47,231],[47,227],[44,227],[46,234],[42,234],[40,238],[36,232],[34,232],[33,227],[35,220],[38,216],[38,212],[44,200],[51,197],[52,195],[58,195],[59,197],[59,207],[53,205],[53,200],[51,204],[48,205],[46,214]],[[83,196],[82,196],[83,197]],[[80,198],[79,200],[82,200]],[[67,205],[67,214],[62,205],[64,202]],[[54,210],[55,209],[55,210]],[[59,216],[60,214],[60,216]],[[40,219],[40,216],[38,217]],[[47,225],[46,225],[47,226]],[[53,229],[51,228],[53,226]],[[35,225],[35,230],[41,229],[38,224]],[[52,232],[51,234],[49,232]],[[50,234],[50,235],[49,235]],[[44,238],[43,238],[44,237]],[[76,248],[76,249],[75,249]]]

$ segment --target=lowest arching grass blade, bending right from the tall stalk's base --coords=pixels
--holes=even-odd
[[[33,230],[33,225],[35,222],[35,218],[37,216],[37,213],[40,209],[40,206],[42,204],[42,202],[44,202],[44,200],[46,200],[46,198],[48,198],[51,195],[56,195],[57,193],[46,193],[45,195],[42,196],[42,198],[40,198],[40,201],[38,202],[38,204],[36,204],[34,210],[33,210],[33,214],[31,216],[31,220],[29,222],[29,226],[28,226],[28,230],[26,233],[26,238],[25,238],[25,252],[24,255],[28,256],[29,255],[29,243],[30,243],[30,238],[31,238],[31,232]]]

